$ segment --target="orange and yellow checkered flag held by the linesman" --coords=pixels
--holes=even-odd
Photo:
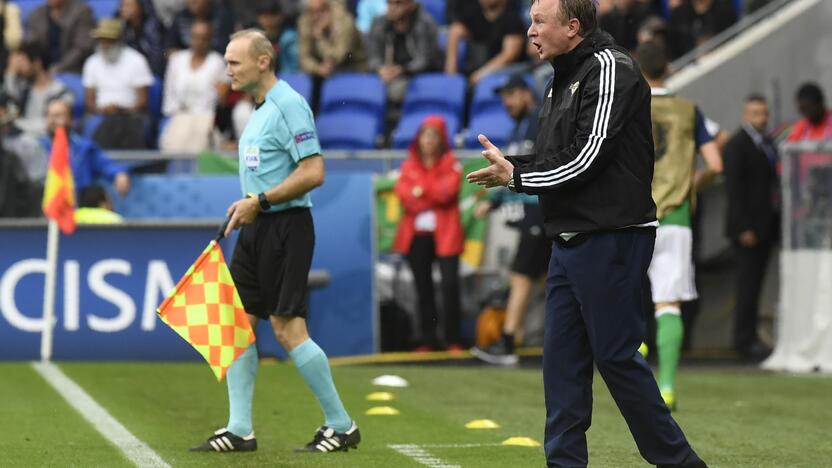
[[[208,361],[217,381],[254,343],[254,332],[217,241],[208,244],[156,312]]]

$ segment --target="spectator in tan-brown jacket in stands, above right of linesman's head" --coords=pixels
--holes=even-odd
[[[353,16],[332,0],[307,0],[298,19],[300,67],[318,79],[336,71],[365,71],[367,52]]]

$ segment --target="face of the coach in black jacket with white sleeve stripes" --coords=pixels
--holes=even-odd
[[[534,0],[529,14],[532,24],[528,36],[541,60],[552,60],[575,46],[580,22],[575,18],[563,21],[558,14],[560,0]]]

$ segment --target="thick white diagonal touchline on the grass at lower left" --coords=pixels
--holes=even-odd
[[[32,367],[105,439],[118,447],[134,465],[170,468],[170,465],[165,463],[159,454],[131,434],[56,365],[51,362],[33,362]]]

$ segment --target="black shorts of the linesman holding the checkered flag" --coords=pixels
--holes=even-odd
[[[260,213],[243,226],[230,270],[246,312],[305,318],[314,247],[309,208]]]

